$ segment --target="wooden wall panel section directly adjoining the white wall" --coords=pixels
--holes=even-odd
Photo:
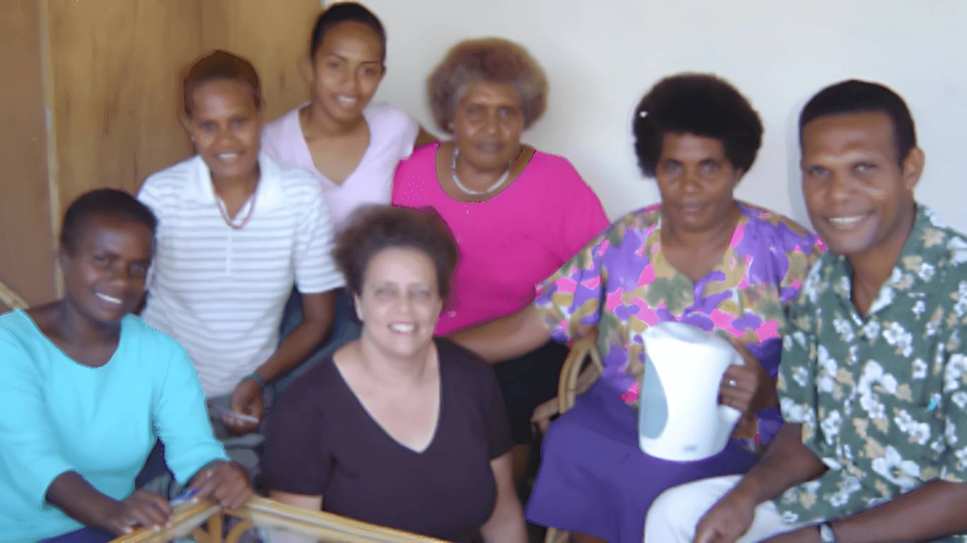
[[[319,0],[202,0],[202,49],[251,61],[262,81],[266,120],[308,100],[303,65]]]

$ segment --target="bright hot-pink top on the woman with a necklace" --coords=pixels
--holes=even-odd
[[[511,186],[484,202],[458,202],[436,177],[434,143],[399,163],[393,204],[436,209],[454,232],[460,260],[437,334],[509,315],[534,287],[608,226],[601,202],[571,162],[540,151]]]

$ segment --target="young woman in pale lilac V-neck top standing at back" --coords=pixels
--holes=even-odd
[[[286,166],[308,171],[326,196],[337,231],[365,204],[389,204],[393,172],[415,144],[436,138],[403,111],[370,103],[386,73],[386,31],[375,14],[354,2],[319,14],[308,43],[309,100],[265,127],[262,151]],[[300,297],[289,299],[282,332],[302,318]],[[345,289],[336,291],[336,322],[329,341],[312,360],[359,336]]]

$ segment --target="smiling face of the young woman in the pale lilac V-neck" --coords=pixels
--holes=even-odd
[[[326,31],[311,59],[312,104],[338,123],[353,123],[383,79],[383,45],[365,24],[345,21]]]

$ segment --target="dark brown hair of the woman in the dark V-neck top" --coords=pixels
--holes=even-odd
[[[429,257],[440,299],[447,300],[458,250],[447,223],[432,208],[369,205],[352,214],[349,226],[337,234],[333,250],[349,292],[361,295],[369,262],[383,249],[394,247],[416,249]]]

